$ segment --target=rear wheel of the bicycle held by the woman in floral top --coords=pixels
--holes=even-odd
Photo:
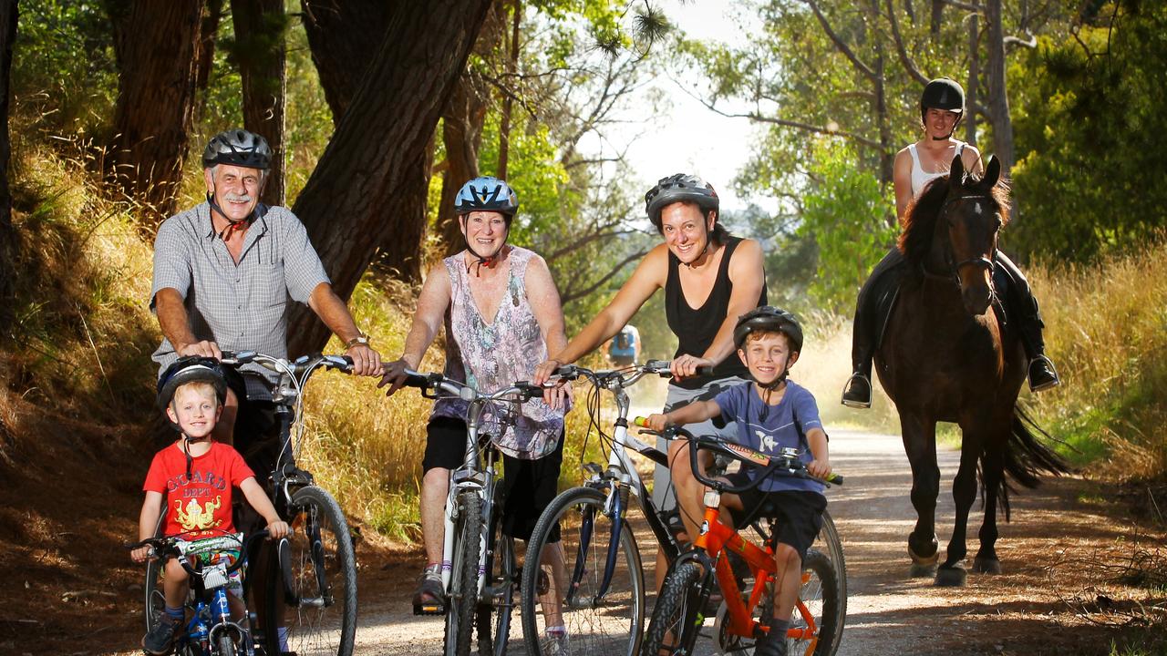
[[[478,633],[480,656],[506,654],[510,642],[511,610],[515,607],[515,593],[518,588],[515,571],[515,539],[503,535],[502,505],[496,494],[494,511],[490,517],[490,532],[487,538],[485,588],[478,598],[476,624]]]

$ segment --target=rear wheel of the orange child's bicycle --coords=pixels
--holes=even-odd
[[[787,634],[789,656],[833,656],[837,637],[843,633],[843,607],[837,596],[838,581],[831,561],[816,549],[806,551],[803,560],[803,584],[798,591],[798,603],[790,616]],[[808,616],[816,624],[813,636],[791,636],[810,626]]]

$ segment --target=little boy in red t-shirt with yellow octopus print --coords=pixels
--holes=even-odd
[[[170,446],[158,452],[151,463],[142,489],[146,500],[138,519],[138,538],[154,537],[155,526],[166,503],[167,536],[182,536],[194,542],[202,538],[233,533],[231,494],[243,491],[247,503],[267,521],[273,539],[288,535],[288,525],[280,519],[256,475],[230,445],[212,442],[211,431],[223,412],[226,382],[216,361],[189,357],[175,362],[159,382],[159,404],[166,407],[170,423],[181,432]],[[135,549],[137,563],[145,563],[149,547]],[[188,591],[187,571],[177,559],[166,563],[162,587],[166,612],[142,637],[147,654],[168,654],[175,634],[186,619]],[[242,617],[244,607],[237,584],[228,595],[231,614]]]

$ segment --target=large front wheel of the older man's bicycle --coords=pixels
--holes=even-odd
[[[350,656],[357,630],[357,568],[352,536],[330,494],[306,486],[292,494],[292,535],[267,578],[265,627],[268,654]],[[280,589],[282,588],[282,589]],[[280,630],[287,643],[280,645]]]

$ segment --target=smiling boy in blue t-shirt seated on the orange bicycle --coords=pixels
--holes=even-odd
[[[826,479],[831,475],[831,461],[818,405],[810,391],[787,381],[790,367],[798,361],[802,341],[802,327],[788,312],[764,306],[743,314],[734,328],[734,343],[754,382],[731,388],[713,400],[698,400],[668,414],[652,414],[648,418],[649,427],[661,431],[670,424],[696,424],[721,416],[738,423],[738,437],[743,446],[774,454],[784,447],[797,448],[802,451],[806,470]],[[761,470],[743,467],[728,479],[739,486],[746,479],[761,475]],[[690,517],[701,516],[701,495],[680,501],[686,524],[691,523]],[[802,561],[823,526],[826,497],[819,482],[774,474],[741,495],[721,495],[721,509],[729,512],[734,526],[741,526],[766,501],[771,502],[778,518],[774,536],[777,543],[774,619],[769,634],[759,640],[754,654],[782,656],[787,652],[785,634],[802,582]],[[687,528],[690,535],[697,535],[696,526]]]

